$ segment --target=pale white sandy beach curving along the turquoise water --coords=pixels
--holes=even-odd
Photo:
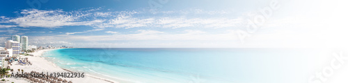
[[[47,49],[47,50],[54,50],[54,49]],[[10,68],[13,68],[13,72],[17,73],[17,69],[23,69],[24,72],[31,72],[31,71],[37,71],[37,72],[44,72],[44,73],[71,73],[74,71],[70,71],[65,68],[60,68],[59,66],[54,65],[52,62],[47,61],[44,57],[40,57],[42,53],[45,53],[47,50],[39,50],[32,54],[33,56],[21,56],[21,58],[28,57],[29,61],[33,64],[30,66],[20,66],[15,65],[14,62]],[[21,72],[21,71],[20,71]],[[113,80],[107,80],[102,77],[97,77],[94,75],[88,75],[86,74],[85,77],[63,77],[63,80],[72,81],[73,83],[118,83]],[[24,80],[23,78],[15,78],[15,77],[8,77],[5,78],[6,83],[30,83],[29,81]],[[8,81],[7,81],[8,80]]]

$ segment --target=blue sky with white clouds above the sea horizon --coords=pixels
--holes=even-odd
[[[6,0],[0,46],[84,48],[345,47],[343,0]]]

